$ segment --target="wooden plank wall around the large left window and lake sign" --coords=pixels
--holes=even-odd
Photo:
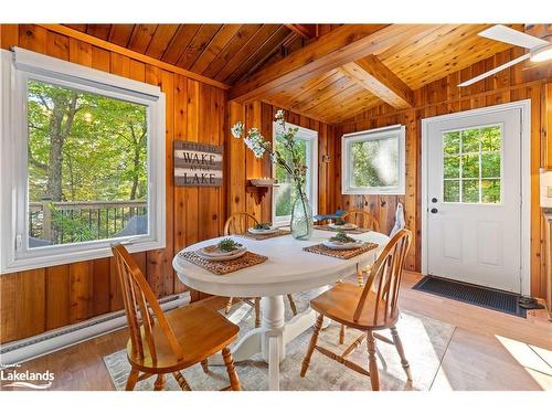
[[[157,296],[184,290],[173,253],[217,236],[225,220],[224,188],[174,188],[172,140],[223,145],[225,91],[31,24],[0,25],[1,46],[21,47],[140,82],[167,98],[167,247],[135,254]],[[192,293],[192,299],[198,295]],[[0,342],[30,337],[123,308],[113,259],[39,268],[0,277]]]

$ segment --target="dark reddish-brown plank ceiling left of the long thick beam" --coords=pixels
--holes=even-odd
[[[285,24],[65,24],[232,85],[300,35]]]

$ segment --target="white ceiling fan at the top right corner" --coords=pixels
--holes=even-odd
[[[507,67],[527,61],[528,59],[531,60],[531,62],[545,62],[552,60],[552,42],[548,42],[545,40],[532,36],[530,34],[519,32],[514,29],[507,28],[506,25],[497,24],[477,34],[487,39],[492,39],[499,42],[513,44],[514,46],[529,49],[529,53],[516,57],[513,61],[497,66],[493,70],[485,72],[476,77],[465,81],[460,83],[458,86],[468,86],[475,84],[476,82],[479,82],[500,71],[503,71]]]

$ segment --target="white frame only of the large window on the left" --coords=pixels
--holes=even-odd
[[[54,83],[145,105],[148,110],[148,234],[29,248],[28,79]],[[108,257],[110,245],[129,252],[163,248],[164,94],[158,86],[14,47],[0,55],[0,273]]]

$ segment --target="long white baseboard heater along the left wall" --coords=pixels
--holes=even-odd
[[[190,302],[190,293],[168,296],[159,300],[164,311]],[[126,327],[124,310],[102,315],[83,322],[54,329],[34,337],[0,346],[0,367],[12,365],[61,349],[84,342],[88,339],[116,331]]]

